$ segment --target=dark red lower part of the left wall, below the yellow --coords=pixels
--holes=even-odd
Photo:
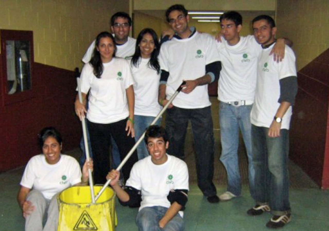
[[[62,133],[63,151],[77,148],[80,141],[81,124],[74,113],[74,72],[34,63],[32,74],[36,90],[32,98],[6,105],[6,93],[0,94],[0,172],[22,166],[40,153],[37,134],[45,126]],[[0,78],[3,91],[3,73]]]

